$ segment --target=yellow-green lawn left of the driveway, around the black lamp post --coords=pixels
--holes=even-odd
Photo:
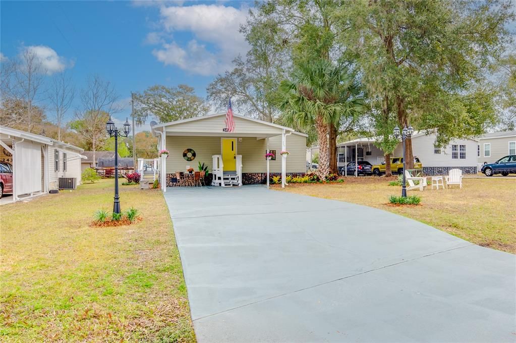
[[[143,220],[89,226],[113,184],[0,208],[0,341],[195,341],[162,193],[121,186]]]

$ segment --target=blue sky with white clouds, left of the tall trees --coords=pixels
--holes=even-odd
[[[123,104],[131,91],[155,84],[188,84],[204,97],[215,75],[247,50],[238,26],[248,6],[252,2],[2,1],[1,58],[37,47],[47,79],[67,70],[80,89],[88,75],[98,74],[115,84]],[[80,108],[78,96],[72,107]],[[116,117],[128,113],[130,106]]]

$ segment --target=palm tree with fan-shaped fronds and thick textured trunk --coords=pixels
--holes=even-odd
[[[338,127],[341,119],[357,117],[364,111],[364,100],[353,75],[343,66],[326,59],[294,67],[290,80],[279,87],[279,108],[283,121],[305,129],[315,127],[319,143],[317,174],[329,173],[328,124]]]

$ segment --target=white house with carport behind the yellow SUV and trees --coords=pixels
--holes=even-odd
[[[368,161],[372,165],[381,164],[384,154],[375,143],[375,138],[359,138],[337,144],[337,165],[341,169],[350,161]],[[444,148],[434,146],[436,134],[426,135],[416,132],[412,135],[412,153],[423,164],[423,173],[427,175],[448,174],[450,169],[461,169],[466,174],[477,172],[477,141],[474,139],[452,140]],[[312,149],[312,154],[318,149]],[[391,157],[402,157],[403,145],[400,142]]]

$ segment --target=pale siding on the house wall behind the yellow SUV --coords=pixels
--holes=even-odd
[[[423,167],[476,167],[477,142],[471,139],[457,139],[451,141],[441,149],[441,154],[434,154],[433,146],[436,135],[417,136],[412,139],[412,153],[417,156]],[[451,158],[451,145],[466,145],[466,158]],[[403,155],[403,145],[396,146],[393,157]]]

